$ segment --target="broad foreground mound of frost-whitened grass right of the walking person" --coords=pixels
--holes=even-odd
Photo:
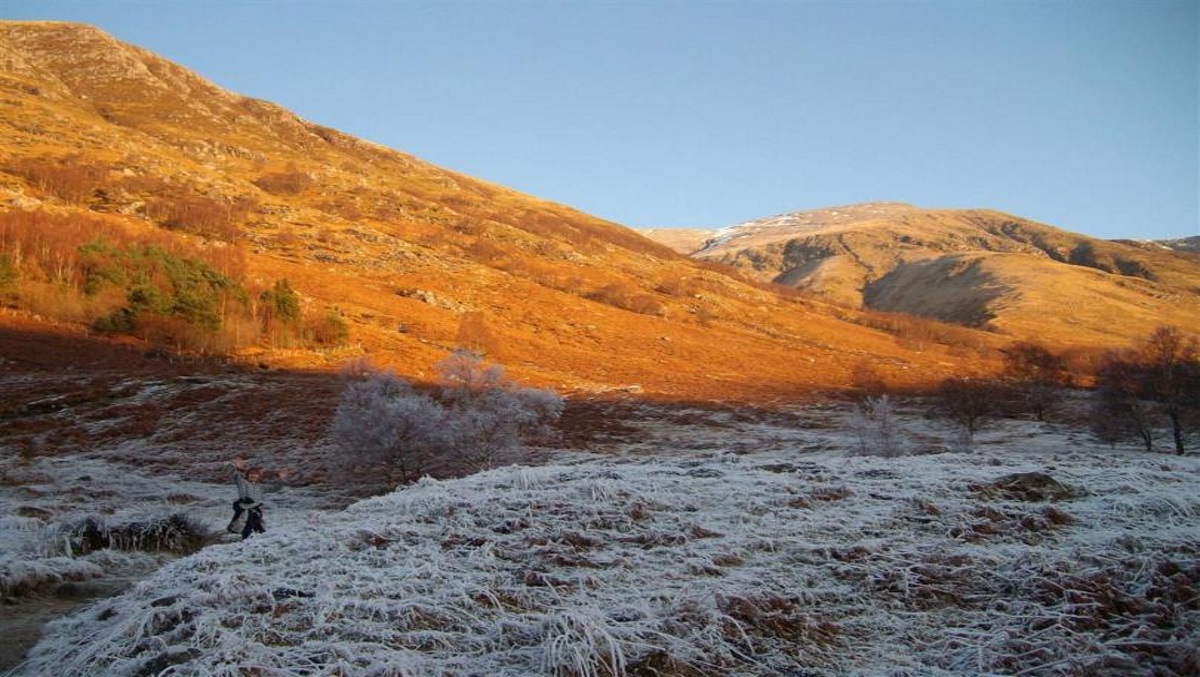
[[[18,670],[1200,672],[1200,459],[1007,435],[422,480],[174,561]]]

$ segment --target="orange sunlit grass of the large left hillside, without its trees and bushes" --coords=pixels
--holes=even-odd
[[[568,389],[770,397],[839,388],[863,363],[905,384],[950,372],[946,351],[899,347],[840,319],[852,311],[701,270],[617,224],[232,95],[92,29],[0,30],[17,55],[8,62],[24,65],[0,77],[0,120],[12,130],[0,166],[70,156],[103,167],[110,188],[68,204],[0,172],[0,191],[25,208],[102,211],[146,232],[157,227],[139,204],[163,190],[256,200],[239,224],[251,282],[288,278],[306,307],[349,322],[358,352],[406,373],[427,373],[467,313],[481,313],[493,357],[515,373]],[[312,182],[294,193],[254,184],[280,173]],[[613,286],[649,314],[614,307]],[[414,289],[438,301],[397,294]]]

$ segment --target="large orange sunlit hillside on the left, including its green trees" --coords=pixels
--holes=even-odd
[[[528,382],[672,397],[989,369],[95,28],[0,23],[0,295],[53,326],[271,366],[368,354],[416,378],[466,346]]]

